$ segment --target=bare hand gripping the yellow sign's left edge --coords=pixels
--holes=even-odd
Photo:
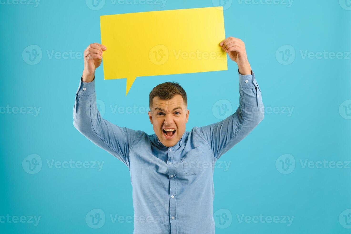
[[[95,77],[95,69],[101,64],[102,51],[106,46],[99,43],[90,44],[84,51],[83,82],[92,82]]]

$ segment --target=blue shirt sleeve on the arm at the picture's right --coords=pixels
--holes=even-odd
[[[240,99],[234,114],[220,122],[195,129],[212,150],[214,160],[245,138],[264,118],[261,90],[252,71],[251,74],[239,73]]]

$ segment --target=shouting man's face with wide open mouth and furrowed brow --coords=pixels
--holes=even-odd
[[[185,124],[189,117],[183,97],[179,94],[169,100],[154,97],[148,114],[161,143],[167,147],[176,145],[185,132]]]

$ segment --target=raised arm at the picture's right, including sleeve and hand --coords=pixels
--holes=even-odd
[[[215,124],[195,129],[211,148],[214,160],[246,137],[264,118],[261,90],[247,60],[244,43],[229,37],[220,45],[238,64],[240,99],[234,114]]]

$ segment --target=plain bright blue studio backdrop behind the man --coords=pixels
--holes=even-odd
[[[220,5],[226,37],[246,44],[265,119],[216,164],[216,233],[351,233],[350,0],[0,3],[0,233],[133,232],[127,167],[73,127],[81,53],[101,41],[100,15]],[[101,66],[100,112],[152,134],[148,94],[166,81],[187,92],[187,131],[239,104],[231,60],[227,71],[138,77],[127,96]]]

